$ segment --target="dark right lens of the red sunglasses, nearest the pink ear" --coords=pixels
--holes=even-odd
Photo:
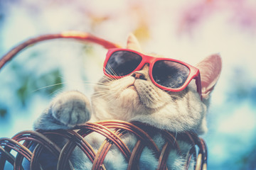
[[[190,70],[183,64],[172,61],[157,61],[152,70],[154,81],[171,89],[180,88],[188,78]]]

